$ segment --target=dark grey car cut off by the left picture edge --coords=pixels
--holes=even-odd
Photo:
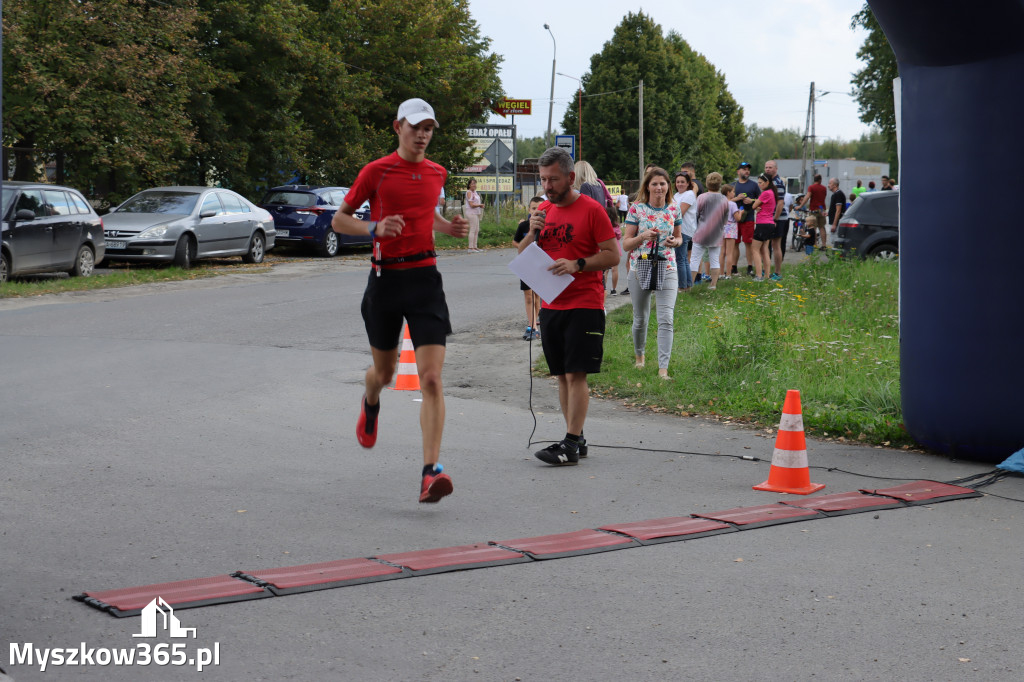
[[[105,250],[103,223],[77,190],[43,182],[3,183],[0,282],[37,272],[89,276]]]

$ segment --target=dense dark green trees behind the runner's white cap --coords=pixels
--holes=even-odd
[[[440,127],[430,158],[471,162],[465,128],[501,96],[465,0],[201,0],[220,77],[198,93],[197,181],[247,195],[298,177],[349,183],[395,147],[398,103],[423,97]]]

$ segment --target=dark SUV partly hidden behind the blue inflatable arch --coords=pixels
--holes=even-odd
[[[839,220],[833,247],[844,256],[894,259],[899,254],[899,190],[865,191]]]

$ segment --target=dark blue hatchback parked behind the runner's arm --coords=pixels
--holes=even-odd
[[[311,247],[331,258],[342,246],[369,245],[370,237],[339,235],[331,229],[331,220],[341,208],[348,187],[321,187],[308,184],[285,184],[267,190],[260,208],[273,216],[278,246]],[[370,220],[370,202],[364,202],[355,217]]]

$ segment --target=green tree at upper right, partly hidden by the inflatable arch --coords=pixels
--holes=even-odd
[[[860,109],[860,120],[874,124],[882,131],[890,174],[897,177],[899,162],[893,101],[893,80],[899,76],[896,54],[866,3],[853,15],[850,27],[862,27],[867,31],[864,44],[857,50],[857,58],[864,62],[864,68],[853,75],[853,95]]]

